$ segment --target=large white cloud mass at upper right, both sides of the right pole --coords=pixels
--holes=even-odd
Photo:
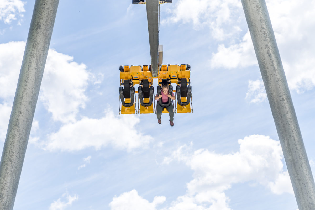
[[[289,88],[297,93],[314,88],[315,0],[267,0],[266,4]],[[208,27],[213,38],[224,42],[218,43],[217,51],[212,53],[212,68],[232,69],[257,65],[240,1],[196,0],[192,3],[190,0],[181,0],[174,7],[168,9],[172,15],[162,23],[192,23],[196,30]],[[247,33],[242,35],[240,31]],[[262,101],[261,97],[254,96],[259,98],[256,102]]]

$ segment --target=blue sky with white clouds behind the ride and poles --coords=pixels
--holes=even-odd
[[[34,3],[0,3],[1,148]],[[266,4],[314,171],[315,0]],[[163,4],[159,38],[164,64],[191,65],[174,127],[118,115],[119,65],[151,62],[146,7],[59,2],[14,210],[298,208],[241,2]]]

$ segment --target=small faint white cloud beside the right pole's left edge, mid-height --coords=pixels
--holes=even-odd
[[[267,94],[265,91],[264,82],[262,80],[248,81],[248,90],[245,99],[249,103],[260,103],[266,100]]]

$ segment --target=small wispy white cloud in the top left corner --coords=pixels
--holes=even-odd
[[[17,19],[17,16],[20,18],[23,17],[25,3],[26,2],[20,0],[1,0],[0,21],[3,21],[5,24],[10,24],[12,20]]]

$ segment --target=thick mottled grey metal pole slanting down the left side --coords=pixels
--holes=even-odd
[[[36,0],[0,162],[0,209],[13,209],[59,0]]]

